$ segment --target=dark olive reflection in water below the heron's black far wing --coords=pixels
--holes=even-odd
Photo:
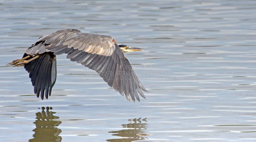
[[[50,110],[50,111],[49,111]],[[61,130],[56,128],[60,125],[61,121],[55,121],[60,117],[54,116],[55,112],[52,112],[52,107],[42,107],[42,112],[36,113],[36,128],[33,130],[35,134],[34,138],[30,139],[29,142],[61,142],[59,134]]]

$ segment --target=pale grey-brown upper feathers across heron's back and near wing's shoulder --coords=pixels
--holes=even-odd
[[[50,51],[48,47],[67,45],[68,48],[73,47],[73,49],[88,53],[111,56],[115,51],[116,44],[112,40],[111,36],[84,34],[76,29],[63,29],[40,37],[25,53],[29,55],[42,54]]]

